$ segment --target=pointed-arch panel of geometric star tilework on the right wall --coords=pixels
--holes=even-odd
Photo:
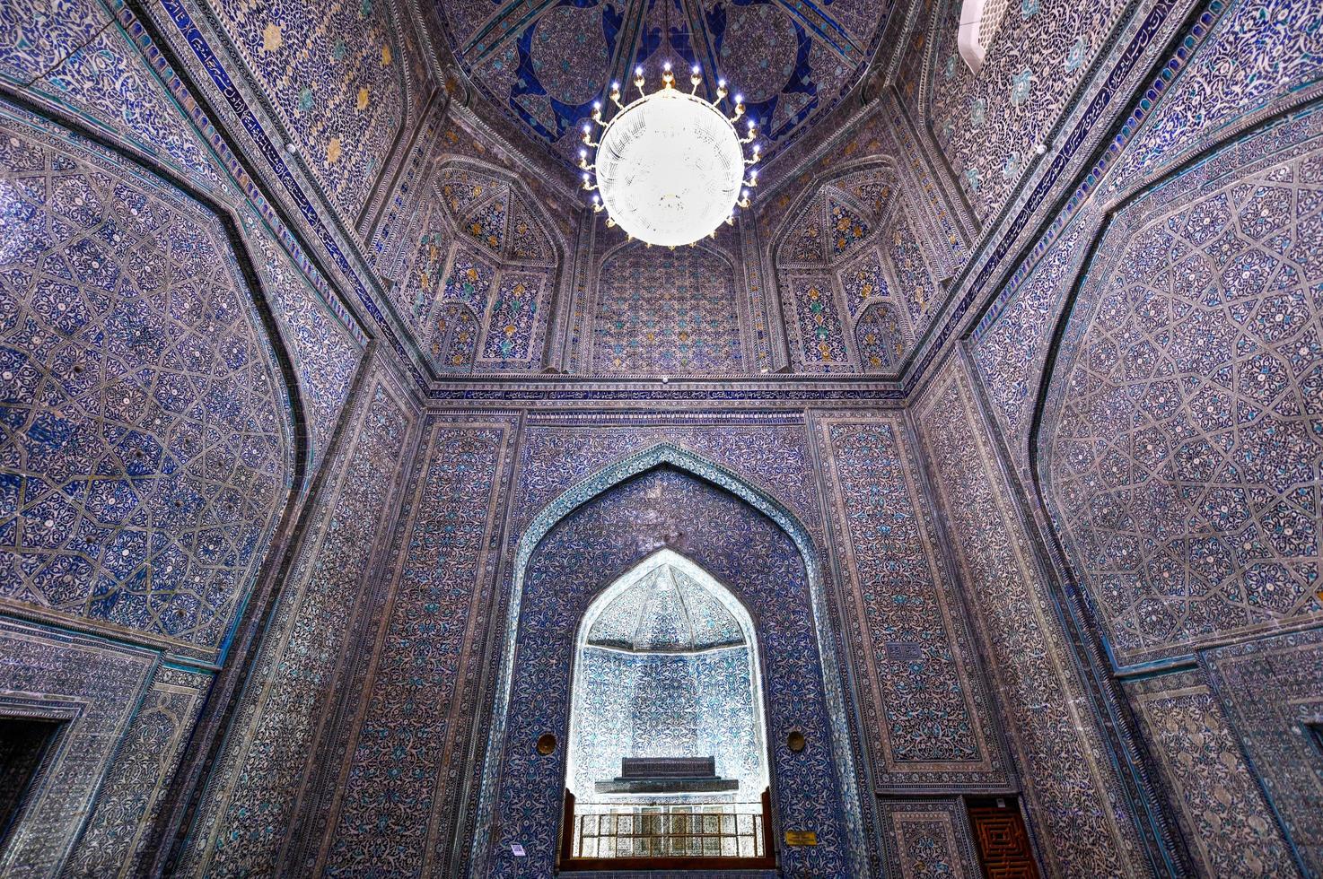
[[[1045,460],[1123,657],[1323,609],[1320,211],[1315,149],[1101,247]]]

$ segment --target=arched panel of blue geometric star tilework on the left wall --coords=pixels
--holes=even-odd
[[[214,648],[288,402],[224,229],[118,171],[0,131],[0,596]]]

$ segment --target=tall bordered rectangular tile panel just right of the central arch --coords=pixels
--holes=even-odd
[[[909,420],[819,412],[812,432],[873,784],[880,793],[1009,785],[1013,771]]]

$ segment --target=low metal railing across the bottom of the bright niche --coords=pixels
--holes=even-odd
[[[720,809],[720,806],[718,806]],[[691,806],[647,806],[576,816],[578,858],[761,858],[761,806],[721,812]]]

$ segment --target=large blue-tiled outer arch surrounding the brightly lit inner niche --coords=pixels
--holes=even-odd
[[[658,445],[578,484],[520,538],[478,792],[472,875],[550,875],[560,846],[578,624],[597,596],[669,547],[747,608],[761,649],[769,775],[779,826],[819,845],[782,849],[787,876],[867,875],[845,685],[808,533],[766,493]],[[786,747],[791,732],[808,745]],[[554,736],[542,753],[537,743]],[[525,857],[513,855],[519,845]],[[523,872],[521,872],[523,871]]]

